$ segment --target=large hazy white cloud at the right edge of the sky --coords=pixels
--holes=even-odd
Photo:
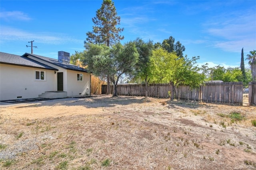
[[[239,52],[242,47],[255,49],[256,47],[256,13],[254,10],[234,11],[230,14],[220,14],[204,24],[206,32],[212,39],[213,47],[228,52]],[[249,50],[249,51],[250,51]]]

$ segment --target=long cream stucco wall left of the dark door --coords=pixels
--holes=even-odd
[[[45,71],[45,80],[36,80],[37,71]],[[44,70],[25,66],[0,64],[0,100],[38,98],[46,91],[57,90],[57,74],[54,70]]]

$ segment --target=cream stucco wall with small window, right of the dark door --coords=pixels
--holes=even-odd
[[[83,74],[83,81],[77,80],[77,74]],[[90,73],[67,70],[68,96],[90,95]]]

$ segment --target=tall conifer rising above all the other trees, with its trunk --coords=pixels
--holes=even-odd
[[[112,0],[103,0],[102,6],[96,12],[96,17],[92,18],[94,26],[92,31],[86,33],[88,43],[104,44],[111,46],[124,39],[120,33],[124,28],[117,27],[120,25],[120,17],[117,16],[116,7]],[[86,41],[84,43],[86,44]],[[110,93],[110,77],[107,75],[107,94]]]

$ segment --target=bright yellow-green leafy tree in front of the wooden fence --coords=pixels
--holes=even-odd
[[[172,99],[175,96],[175,89],[179,85],[189,85],[191,88],[198,88],[203,84],[205,76],[200,73],[200,67],[195,66],[199,57],[188,59],[178,57],[176,53],[158,48],[154,49],[151,59],[151,69],[154,70],[150,82],[172,83]]]

